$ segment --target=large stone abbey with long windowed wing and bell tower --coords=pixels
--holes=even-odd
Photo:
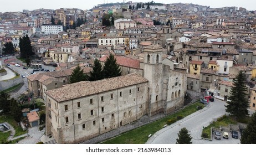
[[[183,107],[187,76],[162,63],[163,50],[159,45],[144,49],[139,64],[142,73],[134,69],[119,77],[47,91],[47,135],[57,143],[79,143],[143,115],[167,114]]]

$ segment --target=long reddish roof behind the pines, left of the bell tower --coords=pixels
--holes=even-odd
[[[107,56],[108,55],[105,55],[102,58],[100,58],[100,61],[105,62]],[[115,58],[116,58],[116,63],[120,66],[126,66],[129,68],[140,69],[140,61],[139,60],[125,58],[122,56],[115,56]]]

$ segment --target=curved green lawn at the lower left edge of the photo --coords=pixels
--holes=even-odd
[[[18,126],[18,123],[14,121],[12,116],[9,116],[9,115],[0,116],[0,123],[3,123],[3,122],[8,122],[10,125],[13,126],[14,130],[16,131],[14,137],[27,133],[27,131],[23,131],[22,128]]]

